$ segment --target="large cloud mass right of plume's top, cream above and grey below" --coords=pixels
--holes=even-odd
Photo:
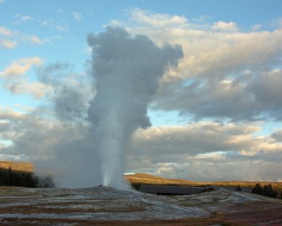
[[[160,16],[141,9],[137,12],[146,20]],[[130,13],[134,24],[121,23],[158,44],[181,44],[184,52],[178,69],[167,71],[162,79],[152,105],[155,109],[178,110],[197,120],[281,119],[281,29],[240,32],[235,23],[209,25],[188,19],[155,29],[154,24],[142,23],[138,13]]]

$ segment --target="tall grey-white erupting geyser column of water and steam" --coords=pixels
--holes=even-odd
[[[158,47],[144,35],[132,37],[121,28],[88,35],[97,94],[90,102],[94,151],[100,158],[102,183],[125,188],[123,167],[131,134],[150,126],[147,105],[159,78],[183,57],[180,46]]]

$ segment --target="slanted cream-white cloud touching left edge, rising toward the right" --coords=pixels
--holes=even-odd
[[[0,77],[23,76],[33,66],[42,64],[40,57],[25,57],[17,59],[0,72]]]

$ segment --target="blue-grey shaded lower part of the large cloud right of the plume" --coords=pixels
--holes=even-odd
[[[158,93],[155,107],[177,109],[195,119],[281,120],[282,71],[257,73],[242,72],[219,81],[195,78],[169,83]]]

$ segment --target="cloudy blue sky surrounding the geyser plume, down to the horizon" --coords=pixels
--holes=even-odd
[[[130,138],[125,173],[282,181],[281,8],[280,0],[0,0],[0,159],[65,178],[94,164],[87,35],[112,27],[183,51],[159,78],[152,125]]]

